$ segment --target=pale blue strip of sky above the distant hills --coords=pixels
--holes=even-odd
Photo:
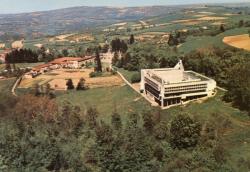
[[[250,0],[0,0],[0,14],[45,11],[74,6],[120,7],[224,2],[250,2]]]

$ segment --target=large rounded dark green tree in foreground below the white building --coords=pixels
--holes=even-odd
[[[194,121],[188,114],[180,114],[171,122],[171,146],[178,149],[195,147],[199,141],[200,132],[200,123]]]

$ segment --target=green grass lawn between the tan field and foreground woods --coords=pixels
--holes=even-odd
[[[59,94],[57,101],[59,104],[69,101],[82,109],[95,106],[102,115],[101,118],[109,119],[115,109],[122,116],[129,113],[141,113],[143,110],[151,110],[151,106],[146,100],[142,98],[136,100],[137,98],[140,98],[140,95],[128,86],[117,86],[86,91],[67,91],[65,94]]]

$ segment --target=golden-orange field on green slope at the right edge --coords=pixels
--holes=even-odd
[[[250,51],[250,37],[248,34],[227,36],[223,39],[223,42],[233,47]]]

